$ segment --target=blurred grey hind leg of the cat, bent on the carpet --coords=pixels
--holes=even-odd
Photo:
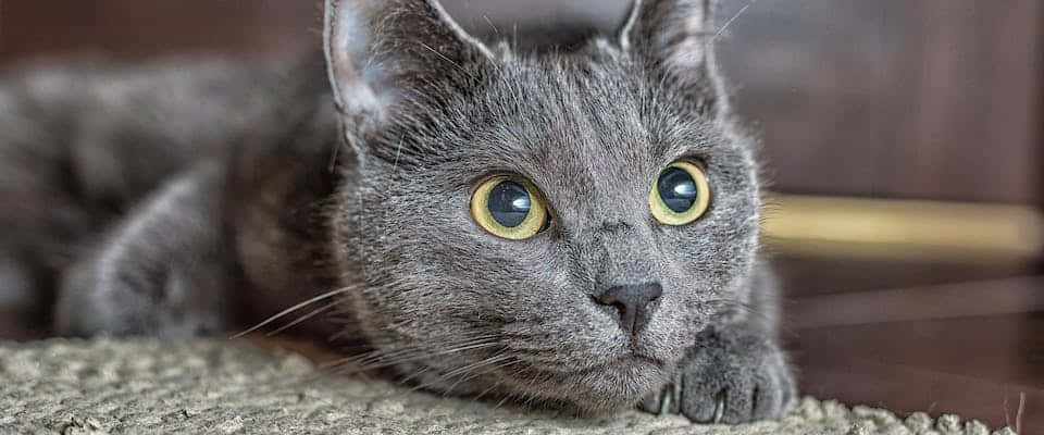
[[[222,224],[224,172],[172,178],[63,276],[62,335],[183,337],[227,331],[234,269]]]

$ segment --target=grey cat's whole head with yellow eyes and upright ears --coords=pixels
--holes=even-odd
[[[709,0],[639,0],[614,37],[515,52],[435,1],[331,0],[351,152],[343,301],[431,387],[634,405],[747,298],[759,192],[728,121]]]

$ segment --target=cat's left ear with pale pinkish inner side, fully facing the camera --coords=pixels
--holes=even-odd
[[[467,62],[492,58],[436,0],[326,0],[325,7],[330,80],[353,128],[386,120]]]

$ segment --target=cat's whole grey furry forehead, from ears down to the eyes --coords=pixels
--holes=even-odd
[[[575,52],[532,55],[500,49],[495,63],[450,65],[448,85],[433,87],[437,95],[421,101],[421,115],[382,132],[374,148],[387,163],[381,167],[424,167],[456,187],[517,173],[549,195],[611,186],[633,196],[682,157],[739,154],[716,160],[745,163],[722,121],[616,47],[595,40]]]

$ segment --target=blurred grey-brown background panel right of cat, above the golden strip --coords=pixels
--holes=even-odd
[[[719,55],[782,190],[1040,203],[1042,17],[1039,0],[760,1]]]

